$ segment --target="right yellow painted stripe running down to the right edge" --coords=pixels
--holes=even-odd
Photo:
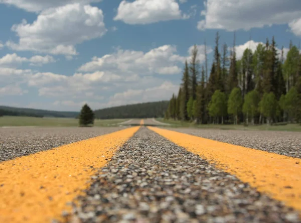
[[[301,210],[301,159],[148,127],[286,205]]]

